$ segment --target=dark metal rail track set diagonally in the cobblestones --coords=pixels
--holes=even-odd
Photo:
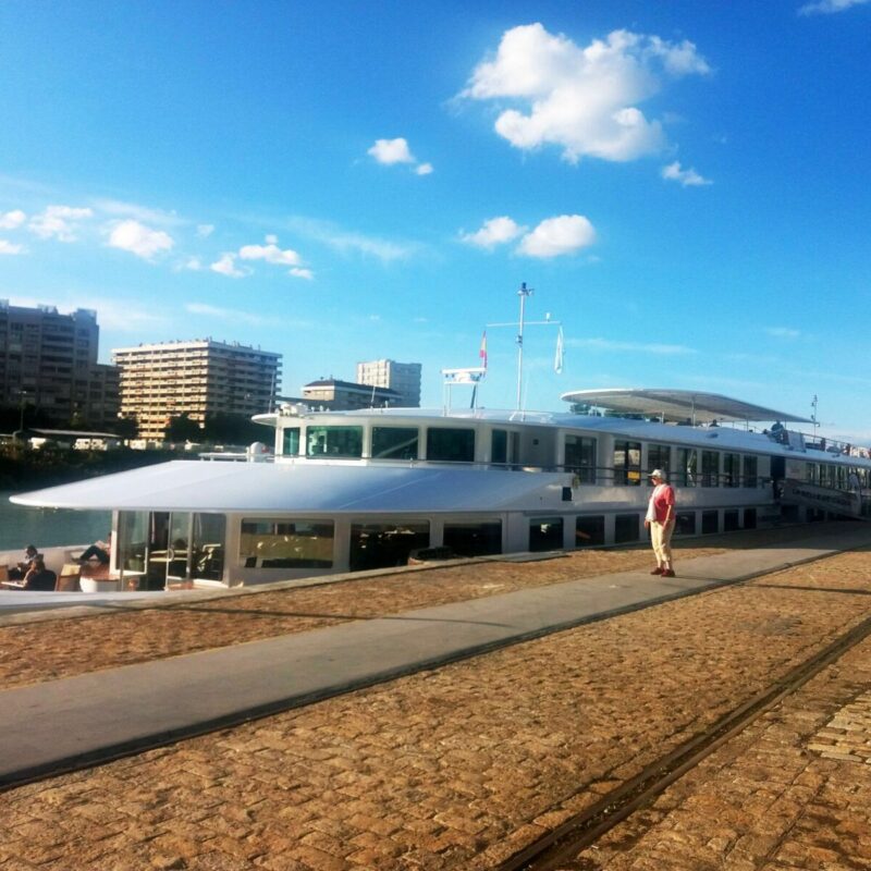
[[[717,747],[743,732],[777,702],[802,687],[869,636],[871,617],[799,663],[752,699],[724,714],[710,728],[692,736],[586,810],[565,820],[547,835],[514,854],[498,867],[498,871],[554,871],[572,864],[581,850],[594,844],[636,810],[649,805]]]

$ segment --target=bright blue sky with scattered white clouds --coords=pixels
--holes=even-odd
[[[0,297],[283,392],[478,364],[871,442],[871,2],[0,2]],[[513,407],[511,328],[481,402]],[[454,391],[454,402],[465,401]]]

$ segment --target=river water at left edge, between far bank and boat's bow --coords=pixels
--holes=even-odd
[[[9,501],[13,492],[21,490],[0,490],[0,551],[23,551],[27,544],[41,550],[107,540],[112,526],[111,512],[26,508]]]

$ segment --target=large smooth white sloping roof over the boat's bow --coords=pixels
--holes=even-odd
[[[439,466],[173,461],[11,498],[56,508],[281,513],[481,512],[540,508],[541,474]],[[562,482],[562,481],[561,481]]]

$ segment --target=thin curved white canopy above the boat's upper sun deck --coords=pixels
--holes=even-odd
[[[563,393],[566,402],[585,403],[619,414],[638,414],[663,420],[710,424],[713,420],[764,420],[812,424],[807,417],[777,412],[749,402],[733,400],[720,393],[698,390],[634,389],[576,390]]]

